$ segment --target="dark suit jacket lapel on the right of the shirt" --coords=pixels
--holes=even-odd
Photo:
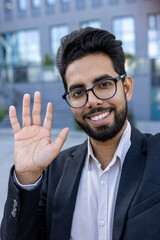
[[[143,177],[145,160],[145,136],[132,128],[131,147],[122,168],[115,206],[113,240],[119,240],[125,224],[129,206]]]

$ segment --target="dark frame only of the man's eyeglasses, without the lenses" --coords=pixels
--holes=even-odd
[[[94,87],[95,87],[97,84],[99,84],[99,82],[95,83],[95,84],[93,85],[93,87],[88,88],[88,89],[86,89],[86,90],[85,90],[85,89],[83,90],[83,91],[86,93],[86,102],[85,102],[81,107],[73,107],[73,106],[71,106],[70,103],[67,101],[66,96],[69,95],[70,92],[75,91],[74,89],[71,90],[71,91],[69,91],[69,92],[65,92],[65,93],[62,95],[62,98],[67,102],[67,104],[68,104],[71,108],[77,108],[77,109],[78,109],[78,108],[82,108],[82,107],[84,107],[84,106],[86,105],[86,103],[88,102],[88,92],[89,92],[89,91],[92,91],[92,93],[93,93],[98,99],[100,99],[100,100],[108,100],[108,99],[110,99],[110,98],[112,98],[112,97],[115,96],[115,94],[116,94],[116,92],[117,92],[117,82],[118,82],[119,80],[122,80],[125,76],[126,76],[126,74],[124,73],[123,75],[118,76],[118,77],[116,77],[116,78],[107,78],[107,80],[112,80],[112,81],[115,83],[115,93],[114,93],[111,97],[109,97],[109,98],[100,98],[100,97],[98,97],[98,96],[95,94],[95,92],[94,92]],[[102,80],[102,81],[103,81],[103,80]]]

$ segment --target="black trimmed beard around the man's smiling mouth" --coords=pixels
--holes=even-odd
[[[106,110],[106,109],[105,108],[97,108],[96,110],[93,109],[93,110],[91,110],[91,112],[89,114],[96,113],[96,112],[98,113],[103,110]],[[106,125],[103,125],[100,127],[96,127],[96,130],[94,130],[89,125],[85,125],[85,124],[77,121],[77,119],[75,119],[75,120],[89,137],[91,137],[97,141],[100,141],[100,142],[105,142],[105,141],[108,141],[108,140],[111,140],[112,138],[114,138],[121,131],[121,129],[124,126],[124,123],[127,118],[127,113],[128,113],[128,106],[127,106],[126,99],[125,99],[125,106],[120,112],[117,113],[116,109],[113,107],[110,108],[110,110],[115,112],[114,123],[111,126],[106,124]],[[89,115],[89,114],[87,114],[87,115]]]

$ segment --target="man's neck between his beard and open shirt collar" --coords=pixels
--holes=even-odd
[[[122,127],[121,131],[114,138],[106,142],[100,142],[90,138],[93,153],[95,157],[98,159],[99,163],[101,164],[102,170],[104,170],[108,166],[108,164],[112,161],[114,153],[118,147],[118,144],[126,127],[127,120],[124,126]]]

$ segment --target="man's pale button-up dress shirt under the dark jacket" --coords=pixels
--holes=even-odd
[[[79,184],[70,240],[112,240],[117,189],[126,153],[131,145],[127,124],[114,157],[105,170],[95,158],[90,141]]]

